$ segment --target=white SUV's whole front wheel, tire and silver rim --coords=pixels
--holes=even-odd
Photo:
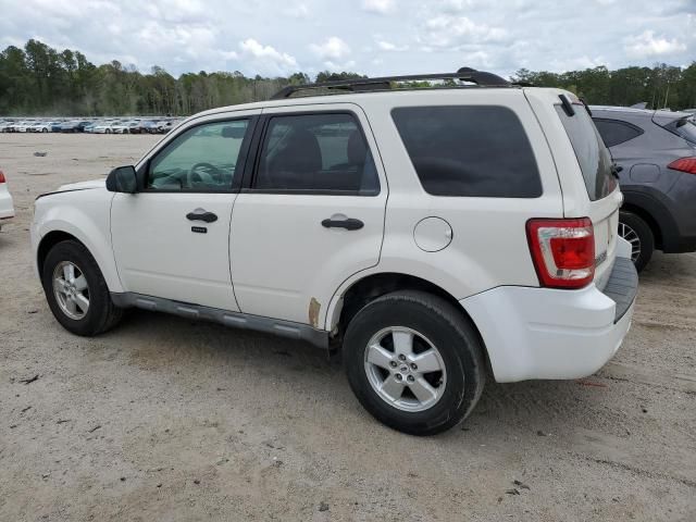
[[[100,334],[115,326],[123,315],[111,300],[97,261],[77,241],[61,241],[51,248],[44,261],[41,282],[51,312],[73,334]]]

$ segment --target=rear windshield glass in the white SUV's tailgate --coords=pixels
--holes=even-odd
[[[587,111],[582,105],[574,107],[572,116],[566,114],[561,105],[556,105],[556,111],[575,151],[587,196],[596,201],[609,196],[617,187],[617,179],[611,173],[611,154]]]

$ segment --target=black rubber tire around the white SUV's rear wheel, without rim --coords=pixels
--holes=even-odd
[[[439,399],[427,409],[398,409],[370,383],[365,368],[368,344],[388,327],[411,328],[439,352],[446,385]],[[476,332],[452,304],[423,291],[396,291],[369,302],[350,321],[343,355],[348,382],[360,403],[387,426],[411,435],[433,435],[461,422],[478,401],[485,384],[483,346]],[[386,382],[389,372],[384,373]]]

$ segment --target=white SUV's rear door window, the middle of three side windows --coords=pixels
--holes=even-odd
[[[370,196],[380,182],[355,116],[301,114],[270,119],[253,188]]]

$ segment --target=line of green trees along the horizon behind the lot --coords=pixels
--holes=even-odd
[[[361,77],[319,73],[324,82]],[[658,64],[609,71],[599,66],[568,73],[520,70],[511,78],[536,86],[563,87],[588,103],[685,109],[696,107],[696,62],[685,69]],[[188,115],[213,107],[266,100],[287,85],[310,83],[297,72],[287,77],[246,77],[238,71],[185,73],[175,78],[159,66],[149,74],[117,61],[95,65],[79,51],[59,51],[32,39],[23,49],[0,53],[1,115]]]

